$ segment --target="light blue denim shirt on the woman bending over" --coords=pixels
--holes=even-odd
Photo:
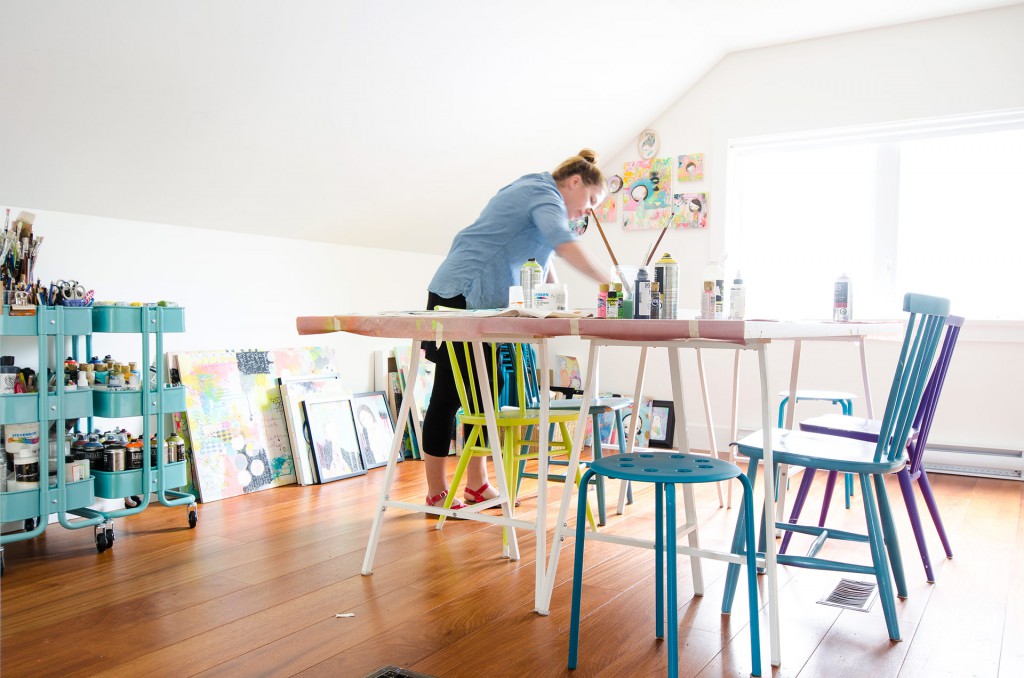
[[[503,308],[527,259],[544,266],[546,280],[555,248],[578,239],[551,173],[527,174],[499,190],[476,221],[459,231],[429,290],[442,297],[461,294],[467,308]]]

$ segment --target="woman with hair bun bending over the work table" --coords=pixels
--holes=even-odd
[[[604,199],[604,177],[596,163],[597,155],[584,149],[551,172],[527,174],[499,190],[476,221],[455,237],[428,286],[427,308],[502,308],[508,304],[509,287],[519,284],[519,267],[527,259],[536,258],[544,266],[549,283],[558,282],[552,265],[555,254],[596,283],[606,282],[605,271],[569,227],[569,219],[586,216]],[[447,496],[445,460],[459,395],[447,347],[438,350],[433,342],[424,342],[424,348],[427,358],[437,365],[423,420],[427,504],[441,506]],[[466,470],[466,501],[497,496],[487,483],[485,460],[473,458]],[[465,505],[453,499],[452,508]]]

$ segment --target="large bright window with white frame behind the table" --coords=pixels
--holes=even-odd
[[[729,264],[751,314],[824,317],[841,273],[854,316],[905,292],[976,320],[1024,320],[1024,112],[737,139]]]

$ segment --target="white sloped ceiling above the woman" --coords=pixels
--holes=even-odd
[[[999,0],[0,5],[0,205],[443,253],[730,51]]]

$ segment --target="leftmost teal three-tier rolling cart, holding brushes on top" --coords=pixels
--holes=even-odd
[[[25,532],[0,536],[0,573],[4,569],[3,544],[38,537],[46,529],[51,513],[68,529],[95,527],[97,544],[105,541],[103,524],[106,520],[98,511],[86,508],[94,500],[95,478],[71,481],[67,477],[63,454],[58,452],[56,476],[48,473],[50,422],[80,419],[92,415],[92,393],[87,390],[66,391],[62,380],[57,379],[52,392],[47,391],[47,369],[50,343],[53,344],[53,370],[62,374],[60,356],[65,355],[65,342],[71,338],[88,337],[92,332],[92,310],[63,306],[37,306],[35,315],[10,315],[10,307],[3,307],[0,315],[0,337],[35,337],[39,375],[38,393],[0,394],[0,424],[39,423],[39,485],[36,489],[14,489],[0,493],[0,519],[5,522],[25,520]],[[57,426],[62,436],[65,426]],[[57,441],[63,450],[63,440]],[[71,522],[69,514],[84,518]]]

